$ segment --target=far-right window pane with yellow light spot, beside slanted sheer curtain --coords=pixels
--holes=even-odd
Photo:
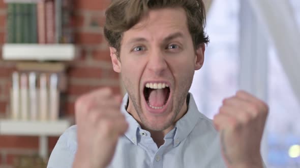
[[[300,2],[290,0],[300,30]],[[269,49],[268,165],[272,168],[300,167],[300,104],[273,46]]]

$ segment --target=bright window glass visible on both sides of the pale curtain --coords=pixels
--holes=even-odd
[[[222,100],[239,88],[239,4],[238,0],[215,0],[207,14],[211,39],[203,67],[195,72],[190,92],[200,112],[209,118],[218,112]],[[300,31],[300,1],[289,0]],[[250,8],[250,7],[249,7]],[[271,168],[300,167],[300,104],[272,44],[268,51],[265,163]]]

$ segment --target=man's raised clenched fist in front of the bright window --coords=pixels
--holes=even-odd
[[[244,91],[224,99],[214,124],[228,167],[262,167],[260,142],[268,106]]]

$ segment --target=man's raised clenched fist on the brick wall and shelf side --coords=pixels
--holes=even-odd
[[[102,168],[111,161],[117,140],[128,129],[119,110],[121,97],[108,88],[81,96],[75,104],[78,148],[73,167]]]

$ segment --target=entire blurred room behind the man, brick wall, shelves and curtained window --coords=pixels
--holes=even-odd
[[[46,167],[78,96],[124,93],[103,36],[109,0],[0,0],[0,167]],[[212,118],[239,89],[269,104],[267,167],[300,167],[300,1],[205,0],[211,39],[190,92]]]

